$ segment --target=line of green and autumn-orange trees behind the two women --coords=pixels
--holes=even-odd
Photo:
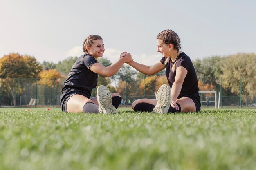
[[[0,77],[8,82],[9,92],[15,102],[16,93],[22,93],[12,78],[36,78],[38,84],[58,87],[63,86],[63,80],[78,57],[68,57],[58,63],[44,61],[37,62],[30,55],[10,53],[0,58]],[[159,59],[160,60],[160,59]],[[112,64],[107,58],[98,60],[104,66]],[[211,56],[193,61],[200,91],[220,91],[226,95],[242,95],[245,104],[253,102],[256,95],[256,55],[254,53],[236,53],[227,56]],[[154,95],[162,84],[168,84],[165,70],[146,76],[124,65],[112,77],[99,75],[98,86],[107,85],[112,92],[122,96]],[[18,89],[20,88],[20,89]],[[8,93],[8,92],[6,92]],[[92,95],[95,95],[93,91]]]

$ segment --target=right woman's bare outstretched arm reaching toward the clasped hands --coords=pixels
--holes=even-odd
[[[157,62],[153,66],[146,66],[143,64],[139,64],[135,61],[128,62],[127,64],[135,68],[137,71],[146,75],[153,75],[155,73],[158,73],[159,71],[164,70],[164,68],[166,68],[166,66],[161,62]]]

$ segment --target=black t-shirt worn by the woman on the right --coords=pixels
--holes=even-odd
[[[160,62],[164,64],[165,60],[167,57],[163,57]],[[176,61],[175,61],[176,62]],[[178,99],[181,97],[186,97],[186,96],[193,96],[196,97],[200,101],[199,97],[199,88],[198,88],[198,78],[195,73],[195,68],[193,66],[193,63],[191,62],[189,56],[187,56],[185,53],[180,53],[177,59],[177,63],[175,66],[175,71],[174,73],[171,71],[171,68],[175,62],[171,62],[171,59],[168,61],[166,65],[166,77],[168,80],[168,83],[170,87],[172,88],[173,82],[175,81],[175,76],[176,76],[176,69],[179,66],[183,66],[186,68],[188,71],[184,82],[182,84],[182,88],[180,91],[180,95],[178,96]]]

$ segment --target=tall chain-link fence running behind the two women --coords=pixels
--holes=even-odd
[[[107,86],[111,92],[117,92],[122,97],[121,106],[129,106],[136,99],[155,99],[155,92],[162,84],[168,84],[166,76],[144,76],[134,81],[125,79],[104,78],[106,81],[98,82]],[[1,78],[0,79],[0,106],[1,107],[59,107],[61,88],[65,78],[49,79],[47,83],[39,79],[28,78]],[[255,91],[247,91],[243,84],[232,89],[227,86],[229,80],[220,79],[217,84],[204,83],[198,79],[202,108],[207,107],[256,107]],[[115,86],[115,87],[114,87]],[[246,86],[245,86],[246,87]],[[96,96],[96,88],[92,97]]]

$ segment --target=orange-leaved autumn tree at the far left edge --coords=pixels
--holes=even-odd
[[[10,53],[0,59],[0,77],[8,82],[7,88],[11,91],[14,106],[16,106],[16,93],[18,91],[22,93],[21,86],[18,87],[19,79],[17,78],[36,78],[41,70],[42,66],[36,58],[29,55]]]

